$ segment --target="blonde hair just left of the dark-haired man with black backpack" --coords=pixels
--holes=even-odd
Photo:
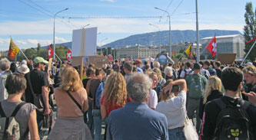
[[[207,97],[210,96],[211,90],[221,91],[221,80],[216,76],[212,76],[208,80],[206,89],[204,90],[204,104],[207,102]]]

